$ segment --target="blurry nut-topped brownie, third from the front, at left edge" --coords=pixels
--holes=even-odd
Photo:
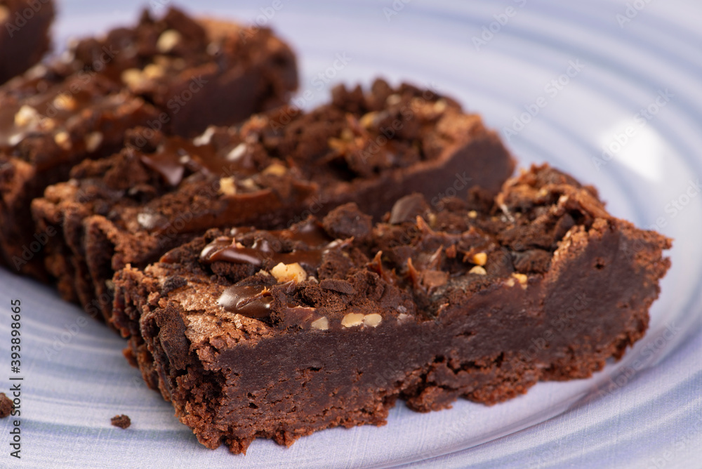
[[[126,129],[145,126],[143,142],[155,131],[194,136],[286,103],[296,86],[296,60],[270,29],[193,20],[173,8],[78,41],[0,88],[1,257],[44,275],[39,249],[60,226],[35,239],[31,200],[79,161],[119,151]]]

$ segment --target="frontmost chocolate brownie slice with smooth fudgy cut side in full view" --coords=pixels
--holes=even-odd
[[[397,398],[494,404],[585,378],[644,335],[670,240],[548,166],[491,199],[354,204],[211,230],[114,277],[128,357],[206,447],[382,425]],[[137,324],[139,325],[137,327]]]

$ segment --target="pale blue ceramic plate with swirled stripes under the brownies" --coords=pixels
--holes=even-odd
[[[168,0],[152,0],[163,10]],[[139,2],[61,3],[62,41],[135,20]],[[382,428],[333,429],[246,456],[201,447],[145,388],[124,342],[54,291],[0,271],[0,388],[10,302],[22,304],[21,463],[0,467],[702,467],[702,33],[698,1],[199,1],[196,13],[273,25],[300,54],[300,100],[383,75],[453,95],[523,166],[596,185],[616,216],[675,238],[647,335],[587,380],[540,383],[494,407],[457,402]],[[615,279],[616,281],[616,279]],[[115,414],[132,426],[110,425]],[[20,465],[21,464],[21,465]]]

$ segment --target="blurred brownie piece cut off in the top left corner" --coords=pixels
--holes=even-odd
[[[0,0],[0,84],[41,60],[53,18],[52,0]]]

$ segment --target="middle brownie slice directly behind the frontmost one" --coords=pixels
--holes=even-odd
[[[282,228],[351,201],[382,216],[405,194],[437,199],[475,183],[494,194],[514,166],[476,114],[380,80],[367,93],[336,88],[331,103],[307,113],[282,108],[193,140],[146,140],[140,130],[128,140],[33,204],[40,229],[63,220],[49,268],[64,296],[108,322],[116,270],[145,267],[211,227]]]

